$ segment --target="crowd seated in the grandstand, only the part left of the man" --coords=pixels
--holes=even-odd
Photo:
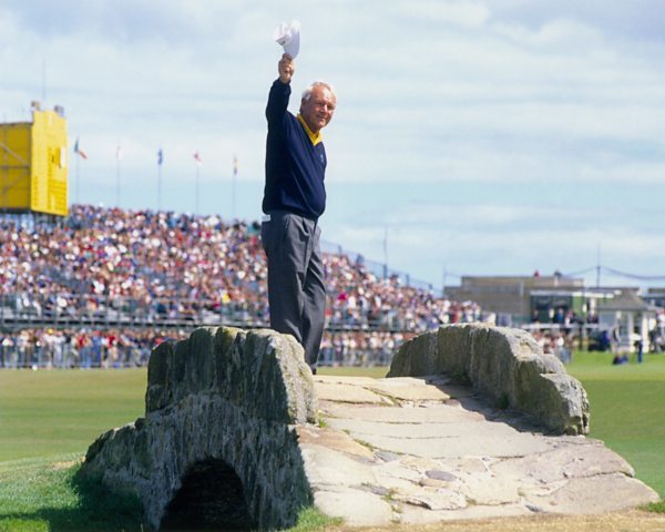
[[[0,242],[0,295],[18,311],[81,317],[115,306],[150,319],[203,306],[266,317],[255,224],[75,205],[57,225],[6,222]]]

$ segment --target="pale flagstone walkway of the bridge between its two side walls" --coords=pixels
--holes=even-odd
[[[298,427],[315,505],[350,525],[594,514],[658,495],[602,441],[549,436],[444,376],[315,377]]]

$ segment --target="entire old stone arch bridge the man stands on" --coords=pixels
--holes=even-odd
[[[145,417],[101,436],[83,471],[136,494],[153,529],[284,529],[315,507],[351,525],[658,500],[585,438],[579,381],[515,329],[442,327],[389,378],[314,377],[270,330],[196,330],[157,347]]]

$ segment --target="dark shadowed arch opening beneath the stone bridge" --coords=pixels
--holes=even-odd
[[[193,464],[183,485],[166,507],[160,530],[255,530],[243,493],[243,483],[224,460]]]

